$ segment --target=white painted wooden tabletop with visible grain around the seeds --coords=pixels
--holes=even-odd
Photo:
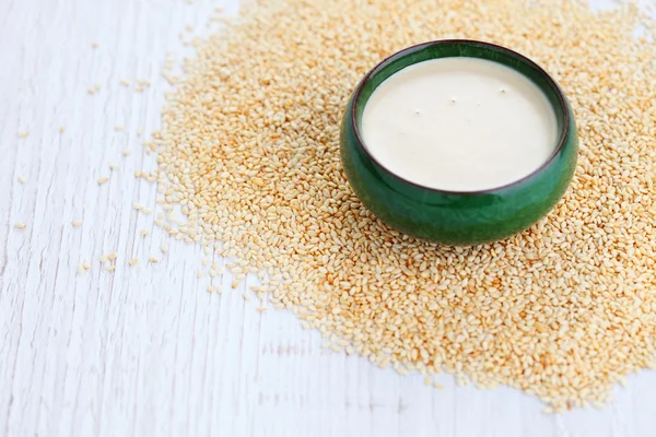
[[[654,373],[630,377],[602,410],[558,416],[447,375],[436,390],[321,350],[317,332],[285,311],[260,315],[239,291],[207,294],[198,246],[172,241],[162,255],[153,217],[131,209],[155,206],[155,187],[133,177],[153,164],[136,132],[157,126],[166,52],[185,54],[178,33],[206,34],[216,7],[237,9],[0,1],[0,435],[656,436]],[[138,78],[153,86],[119,84]],[[120,168],[98,186],[110,163]],[[105,272],[98,257],[114,251],[117,271]],[[78,275],[83,261],[93,268]]]

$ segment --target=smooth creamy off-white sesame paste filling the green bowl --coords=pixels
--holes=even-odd
[[[553,154],[558,127],[547,96],[526,76],[456,57],[415,63],[383,82],[366,103],[361,132],[397,176],[477,191],[539,168]]]

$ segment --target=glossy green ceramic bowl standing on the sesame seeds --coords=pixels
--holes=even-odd
[[[472,192],[426,188],[383,167],[362,141],[362,113],[376,86],[410,64],[462,56],[500,62],[518,71],[542,90],[555,111],[559,137],[553,155],[520,180]],[[535,224],[563,197],[576,167],[577,151],[574,115],[553,79],[515,51],[476,40],[425,43],[385,59],[355,88],[341,128],[342,165],[351,187],[364,205],[402,233],[445,245],[468,246],[495,241]]]

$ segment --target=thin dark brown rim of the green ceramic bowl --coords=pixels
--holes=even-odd
[[[558,139],[558,143],[553,150],[553,153],[549,156],[549,158],[547,161],[544,161],[544,163],[542,163],[542,165],[540,165],[538,168],[536,168],[535,170],[532,170],[531,173],[529,173],[528,175],[522,177],[520,179],[514,180],[512,182],[499,186],[499,187],[493,187],[493,188],[488,188],[484,190],[475,190],[475,191],[456,191],[456,190],[443,190],[443,189],[438,189],[438,188],[432,188],[432,187],[427,187],[421,184],[417,184],[417,182],[412,182],[408,179],[406,179],[402,176],[397,175],[396,173],[391,172],[389,168],[387,168],[386,166],[384,166],[383,164],[380,164],[380,162],[378,160],[376,160],[376,157],[374,157],[374,155],[368,151],[366,143],[364,142],[364,139],[362,138],[362,134],[360,132],[360,126],[358,123],[358,116],[356,116],[356,108],[358,108],[358,102],[360,99],[360,96],[362,94],[362,90],[364,88],[364,85],[378,72],[383,71],[387,66],[389,66],[391,62],[400,59],[400,58],[405,58],[409,55],[412,55],[415,51],[422,50],[426,47],[430,46],[442,46],[442,45],[455,45],[455,44],[464,44],[464,45],[470,45],[470,46],[479,46],[489,50],[494,50],[494,51],[503,51],[506,55],[517,59],[520,62],[524,62],[525,64],[528,64],[529,67],[531,67],[532,69],[535,69],[540,75],[543,76],[543,79],[547,81],[549,87],[551,87],[553,90],[553,92],[555,93],[555,96],[558,98],[559,105],[560,105],[560,109],[562,110],[563,114],[563,126],[562,128],[559,130],[559,139]],[[453,58],[453,57],[448,57],[448,58]],[[442,59],[442,58],[435,58],[435,59]],[[490,60],[491,62],[496,62],[494,60]],[[419,62],[413,62],[411,64],[415,64],[415,63],[421,63],[424,61],[419,61]],[[497,62],[501,63],[501,62]],[[504,63],[502,63],[503,66],[506,66]],[[515,71],[517,71],[516,69],[514,69],[511,66],[506,66],[507,68],[511,68]],[[403,67],[406,68],[406,67]],[[402,69],[401,69],[402,70]],[[400,71],[400,70],[399,70]],[[518,72],[519,74],[526,76],[524,73]],[[396,74],[396,73],[395,73]],[[530,78],[527,78],[528,80],[530,80]],[[385,81],[383,81],[385,82]],[[382,82],[382,83],[383,83]],[[532,81],[531,81],[532,82]],[[543,92],[543,91],[542,91]],[[366,104],[365,104],[366,106]],[[553,107],[552,104],[550,104],[551,107]],[[571,120],[571,114],[569,110],[569,106],[567,106],[567,101],[566,97],[563,93],[563,91],[561,90],[561,87],[558,85],[558,83],[555,82],[555,80],[553,80],[553,78],[551,78],[551,75],[540,66],[538,66],[536,62],[531,61],[529,58],[527,58],[526,56],[515,51],[515,50],[511,50],[509,48],[500,46],[497,44],[493,44],[493,43],[487,43],[487,42],[481,42],[481,40],[477,40],[477,39],[435,39],[435,40],[431,40],[431,42],[426,42],[426,43],[421,43],[421,44],[417,44],[414,46],[410,46],[407,47],[402,50],[399,50],[390,56],[388,56],[387,58],[383,59],[380,62],[378,62],[378,64],[376,64],[376,67],[374,67],[373,69],[371,69],[365,75],[364,78],[362,78],[362,80],[360,81],[360,83],[358,84],[358,86],[355,87],[355,91],[353,92],[353,104],[351,105],[351,114],[350,114],[350,118],[351,118],[351,123],[355,133],[355,138],[358,139],[358,142],[360,143],[360,145],[362,146],[362,150],[364,151],[364,153],[366,154],[366,156],[372,160],[378,167],[380,167],[382,169],[384,169],[385,172],[387,172],[390,176],[393,176],[394,178],[398,179],[399,181],[403,182],[403,184],[408,184],[412,187],[422,189],[422,190],[427,190],[431,192],[435,192],[435,193],[440,193],[440,194],[452,194],[452,196],[479,196],[479,194],[490,194],[490,193],[495,193],[497,191],[502,191],[508,188],[513,188],[516,186],[522,185],[523,182],[525,182],[526,180],[535,177],[536,175],[540,174],[541,172],[543,172],[547,167],[549,167],[551,165],[551,163],[555,160],[555,157],[562,152],[562,150],[565,147],[565,144],[567,143],[567,135],[570,132],[570,125],[572,123]]]

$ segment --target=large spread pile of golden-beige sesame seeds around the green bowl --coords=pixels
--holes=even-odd
[[[197,43],[163,110],[149,178],[188,218],[165,229],[234,259],[236,281],[256,274],[258,294],[337,350],[401,373],[516,387],[548,411],[605,402],[655,364],[655,28],[630,3],[251,3]],[[501,243],[443,247],[399,234],[341,168],[339,123],[358,81],[384,57],[442,38],[527,55],[575,110],[570,191]]]

